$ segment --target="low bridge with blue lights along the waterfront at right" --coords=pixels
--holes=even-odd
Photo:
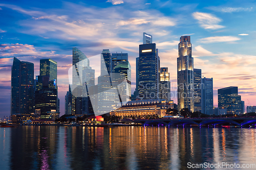
[[[159,126],[255,126],[256,117],[246,118],[161,118],[161,119],[134,119],[121,120],[121,122],[139,123],[143,126],[159,125]]]

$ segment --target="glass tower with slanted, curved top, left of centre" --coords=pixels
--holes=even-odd
[[[86,55],[74,47],[72,65],[72,114],[82,114],[82,69],[89,67],[90,61]]]

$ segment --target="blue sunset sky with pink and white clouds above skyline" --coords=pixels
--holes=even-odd
[[[178,43],[189,35],[194,68],[214,80],[217,90],[238,86],[245,106],[256,105],[255,1],[5,1],[0,3],[0,117],[10,115],[13,57],[34,63],[58,63],[60,115],[65,112],[72,48],[90,60],[103,49],[128,53],[135,89],[135,58],[143,32],[153,36],[161,67],[168,67],[172,91],[177,89]],[[91,62],[96,66],[99,62]],[[97,70],[95,70],[97,72]],[[133,93],[133,92],[132,92]],[[177,98],[173,98],[177,103]]]

